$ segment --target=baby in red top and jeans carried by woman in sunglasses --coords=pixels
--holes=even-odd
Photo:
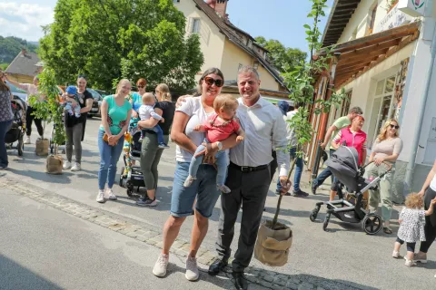
[[[193,130],[206,132],[206,138],[204,142],[213,143],[222,140],[226,140],[233,133],[238,134],[236,141],[239,143],[245,137],[245,132],[241,128],[238,122],[234,121],[236,110],[239,103],[231,94],[220,94],[215,98],[213,102],[213,109],[215,112],[207,118],[203,125],[197,125]],[[203,155],[195,158],[195,155],[204,150],[204,146],[198,146],[191,165],[189,166],[189,176],[184,181],[183,186],[185,188],[190,187],[193,184],[193,180],[197,175],[197,170],[202,164]],[[216,176],[216,187],[223,193],[229,193],[231,190],[224,185],[227,176],[227,166],[229,165],[229,156],[227,151],[218,151],[215,155],[216,167],[218,174]]]

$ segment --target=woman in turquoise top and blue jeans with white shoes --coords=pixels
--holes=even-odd
[[[102,103],[102,124],[98,132],[98,149],[100,150],[100,169],[98,170],[97,202],[104,203],[106,197],[116,200],[112,190],[116,174],[116,163],[123,151],[124,133],[129,127],[132,104],[125,99],[132,89],[129,80],[121,80],[116,86],[116,93],[104,98]],[[104,140],[104,133],[107,140]],[[104,186],[107,181],[107,190]]]

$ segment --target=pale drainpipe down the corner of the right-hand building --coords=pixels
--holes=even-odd
[[[418,151],[418,146],[420,143],[420,136],[421,136],[421,125],[422,120],[424,119],[424,111],[425,111],[425,105],[427,103],[427,99],[429,97],[429,91],[430,91],[430,84],[431,84],[431,76],[433,74],[433,64],[434,59],[436,55],[436,27],[434,27],[433,23],[433,41],[431,43],[431,60],[428,72],[426,74],[425,79],[425,91],[421,97],[420,104],[419,104],[419,115],[418,115],[418,121],[415,125],[415,130],[413,131],[413,143],[411,146],[411,156],[409,158],[409,163],[407,164],[407,171],[406,171],[406,178],[404,180],[404,192],[403,196],[406,196],[406,193],[409,193],[411,189],[411,179],[413,177],[413,171],[415,169],[415,161],[416,161],[416,153]],[[426,24],[426,21],[424,19],[424,25]]]

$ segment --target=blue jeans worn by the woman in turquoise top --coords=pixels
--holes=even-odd
[[[98,170],[98,189],[107,187],[112,189],[116,175],[116,163],[123,151],[124,136],[114,146],[110,146],[103,140],[104,131],[98,131],[98,149],[100,150],[100,169]]]

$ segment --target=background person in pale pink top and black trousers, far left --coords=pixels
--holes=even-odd
[[[27,99],[25,100],[26,105],[27,105],[27,111],[25,112],[25,135],[27,136],[27,138],[25,139],[25,144],[30,144],[30,135],[32,133],[32,122],[33,121],[35,121],[36,129],[38,131],[40,138],[42,139],[42,136],[44,133],[43,120],[38,119],[34,116],[35,109],[29,105],[29,97],[30,96],[40,95],[40,93],[38,91],[38,85],[39,85],[38,76],[37,75],[35,76],[33,83],[15,82],[15,81],[9,79],[7,77],[7,75],[6,75],[6,80],[7,80],[7,82],[11,82],[16,87],[18,87],[22,90],[25,90],[25,92],[27,92]]]

